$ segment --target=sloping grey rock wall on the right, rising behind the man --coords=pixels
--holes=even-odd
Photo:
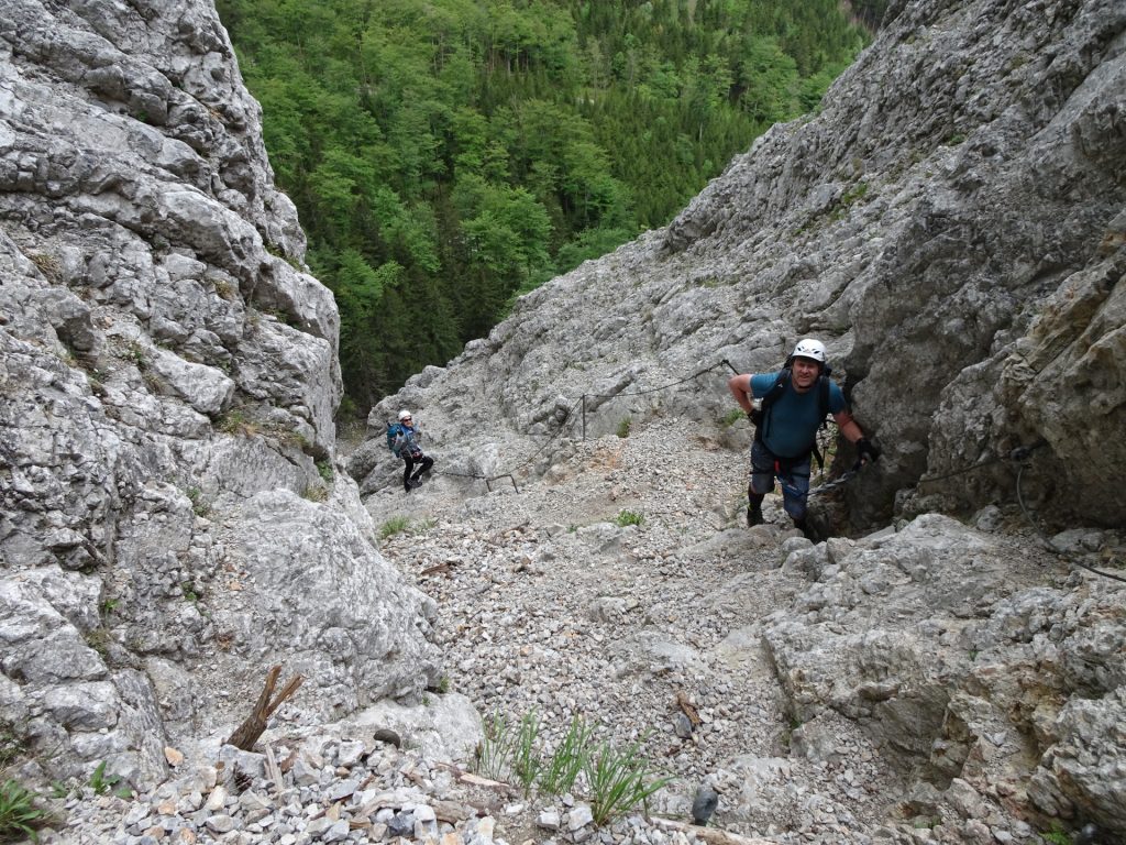
[[[1114,0],[891,5],[815,116],[772,127],[668,228],[524,297],[378,406],[373,436],[408,404],[448,465],[542,472],[580,419],[588,436],[659,410],[717,420],[725,362],[775,370],[816,336],[884,450],[847,488],[854,525],[1015,502],[1010,456],[1042,441],[1025,498],[1120,524],[1124,23]]]

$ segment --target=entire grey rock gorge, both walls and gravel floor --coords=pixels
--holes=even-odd
[[[653,813],[706,781],[732,836],[1126,838],[1120,2],[893,1],[815,114],[347,455],[336,306],[214,7],[9,0],[0,60],[0,733],[23,781],[136,793],[54,840],[692,840],[456,793],[495,709],[646,737]],[[807,335],[883,450],[817,545],[772,500],[741,525],[725,389]],[[402,407],[438,461],[409,497]],[[236,798],[274,665],[296,762]],[[455,797],[472,824],[419,809]]]

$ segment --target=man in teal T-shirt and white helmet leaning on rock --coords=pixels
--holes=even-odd
[[[829,379],[831,370],[824,344],[806,338],[794,347],[780,371],[735,375],[727,381],[739,407],[756,425],[747,487],[748,525],[762,523],[762,499],[774,490],[777,478],[786,513],[803,534],[814,539],[805,521],[810,456],[826,415],[832,415],[844,438],[856,445],[861,463],[879,457],[849,413],[841,389]],[[753,404],[756,399],[761,400],[759,408]]]

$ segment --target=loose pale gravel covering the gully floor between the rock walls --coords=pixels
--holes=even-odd
[[[435,602],[446,670],[417,709],[421,722],[372,710],[303,724],[300,705],[286,705],[262,754],[220,751],[213,738],[151,795],[72,798],[61,810],[69,825],[43,840],[924,843],[965,840],[965,825],[977,825],[991,840],[1038,842],[973,790],[940,836],[947,811],[912,792],[902,755],[833,710],[803,722],[765,638],[825,612],[815,581],[840,568],[826,554],[879,541],[813,546],[777,496],[767,523],[747,528],[745,452],[717,430],[667,417],[627,437],[569,442],[543,478],[493,482],[491,492],[441,475],[440,446],[436,474],[409,495],[388,469],[366,505],[382,554]],[[1013,589],[1075,585],[1027,537],[998,542],[1011,546]],[[560,797],[490,783],[472,759],[481,727],[470,703],[486,726],[535,720],[547,749],[579,718],[599,742],[636,744],[652,776],[671,780],[647,816],[638,807],[598,827],[580,788]],[[707,828],[692,828],[701,784],[718,807]]]

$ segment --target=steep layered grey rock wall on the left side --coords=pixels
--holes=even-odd
[[[436,679],[334,466],[339,319],[211,2],[0,9],[0,712],[51,776]],[[170,735],[170,736],[169,736]]]

